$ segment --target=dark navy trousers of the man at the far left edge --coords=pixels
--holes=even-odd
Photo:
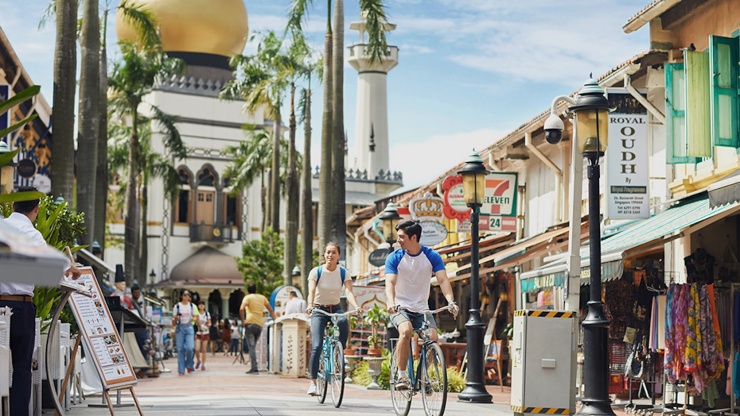
[[[26,416],[31,404],[33,344],[36,338],[36,307],[31,302],[0,301],[13,310],[10,316],[10,352],[13,360],[13,387],[10,414]]]

